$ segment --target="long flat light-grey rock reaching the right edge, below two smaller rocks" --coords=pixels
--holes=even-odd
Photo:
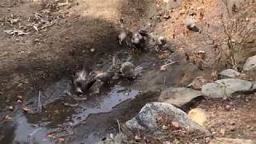
[[[226,78],[202,86],[202,94],[211,98],[226,98],[236,92],[250,92],[256,90],[255,82],[241,79]]]

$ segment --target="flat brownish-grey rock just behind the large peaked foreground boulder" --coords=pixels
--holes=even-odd
[[[193,98],[197,98],[199,96],[202,96],[202,92],[200,90],[193,90],[186,87],[170,87],[169,89],[162,91],[158,101],[167,102],[175,106],[183,106]]]

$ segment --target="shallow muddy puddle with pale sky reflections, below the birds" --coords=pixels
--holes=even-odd
[[[33,99],[26,102],[31,114],[17,111],[10,124],[13,135],[5,135],[3,143],[47,144],[57,142],[58,138],[70,138],[71,143],[97,142],[108,132],[115,131],[109,122],[115,115],[111,110],[139,94],[138,90],[117,84],[85,99],[65,94],[69,84],[68,78],[63,78],[40,93],[42,113],[38,112],[38,92],[32,93],[35,94],[30,97]]]

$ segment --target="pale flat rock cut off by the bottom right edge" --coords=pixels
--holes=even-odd
[[[250,139],[240,139],[240,138],[214,138],[210,141],[210,144],[253,144],[254,142]]]

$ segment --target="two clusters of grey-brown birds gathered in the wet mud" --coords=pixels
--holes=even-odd
[[[130,31],[120,19],[121,31],[118,34],[118,44],[125,45],[132,50],[162,50],[166,46],[166,38],[158,37],[155,34],[148,34],[146,30]],[[90,62],[85,60],[82,70],[79,70],[73,77],[74,93],[82,95],[94,85],[95,82],[109,83],[114,76],[118,78],[134,79],[137,74],[132,62],[123,62],[110,66],[109,70],[99,74],[93,74],[90,70]]]

